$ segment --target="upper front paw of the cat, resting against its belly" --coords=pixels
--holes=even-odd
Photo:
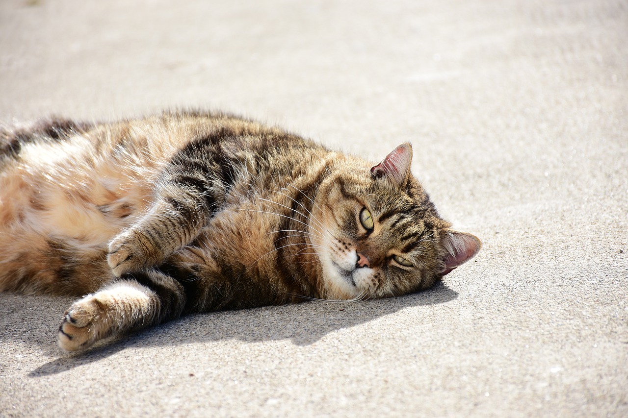
[[[107,262],[117,277],[125,273],[141,271],[150,266],[149,255],[146,254],[150,245],[138,232],[130,230],[118,235],[109,244]]]

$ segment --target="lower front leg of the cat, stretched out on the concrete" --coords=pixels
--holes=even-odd
[[[76,301],[58,330],[63,350],[89,348],[103,338],[138,331],[178,318],[185,306],[183,287],[158,271],[116,281]]]

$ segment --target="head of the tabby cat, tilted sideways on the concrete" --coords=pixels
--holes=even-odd
[[[346,166],[321,185],[310,233],[327,299],[399,296],[428,289],[480,250],[450,229],[410,173],[412,147],[381,163]]]

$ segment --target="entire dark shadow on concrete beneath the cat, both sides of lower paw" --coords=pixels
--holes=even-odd
[[[458,297],[458,293],[439,283],[429,291],[360,303],[306,302],[197,314],[138,334],[106,341],[84,353],[73,354],[63,353],[56,344],[55,331],[63,310],[68,306],[67,298],[5,296],[2,297],[0,310],[6,313],[4,316],[6,335],[28,345],[40,345],[48,355],[61,355],[29,374],[30,377],[40,377],[97,362],[131,347],[232,339],[250,342],[289,339],[295,345],[310,345],[332,331],[367,323],[411,306],[452,301]],[[12,301],[16,306],[11,306]],[[16,320],[24,317],[28,317],[27,323],[33,325],[25,327],[24,322]]]

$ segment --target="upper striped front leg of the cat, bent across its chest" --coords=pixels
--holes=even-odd
[[[220,136],[188,143],[166,166],[149,213],[109,245],[107,260],[116,276],[158,265],[190,244],[224,203],[240,163],[222,148]]]

